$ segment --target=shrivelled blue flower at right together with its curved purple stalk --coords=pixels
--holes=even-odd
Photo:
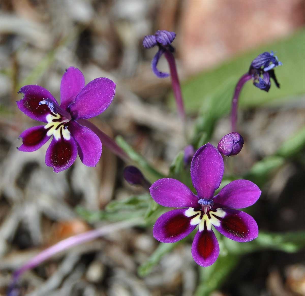
[[[240,91],[242,90],[244,84],[250,79],[252,79],[254,86],[268,92],[271,86],[270,78],[272,78],[274,80],[275,85],[279,88],[280,84],[278,83],[275,77],[274,68],[280,65],[282,65],[282,63],[278,61],[278,58],[274,55],[273,51],[271,51],[270,53],[263,52],[252,61],[249,71],[239,79],[238,83],[236,84],[234,95],[232,98],[232,132],[236,132],[238,99]]]

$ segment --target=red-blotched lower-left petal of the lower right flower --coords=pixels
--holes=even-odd
[[[171,210],[161,215],[154,227],[153,236],[158,241],[172,243],[190,234],[197,225],[191,225],[192,217],[186,217],[187,209]]]

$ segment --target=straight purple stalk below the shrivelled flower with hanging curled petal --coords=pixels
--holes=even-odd
[[[180,87],[180,83],[179,83],[175,58],[174,58],[174,55],[169,50],[166,50],[164,52],[164,55],[165,55],[165,58],[167,59],[168,65],[170,66],[170,77],[171,77],[174,97],[176,99],[178,113],[179,113],[182,121],[185,122],[186,115],[185,115],[185,109],[184,109],[184,104],[183,104],[183,98],[182,98],[181,87]]]

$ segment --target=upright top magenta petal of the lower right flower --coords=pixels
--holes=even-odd
[[[192,182],[199,198],[212,198],[224,174],[224,161],[216,147],[200,147],[191,163]]]

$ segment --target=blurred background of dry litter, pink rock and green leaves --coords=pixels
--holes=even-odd
[[[105,146],[96,168],[77,158],[59,174],[45,166],[48,145],[18,151],[20,133],[38,123],[18,110],[22,95],[17,91],[38,84],[59,100],[69,66],[79,68],[87,83],[112,79],[117,83],[113,103],[92,122],[110,137],[122,136],[167,175],[188,143],[170,78],[158,79],[150,69],[157,49],[142,46],[143,37],[156,30],[177,33],[172,45],[194,146],[217,145],[230,132],[237,80],[258,54],[276,52],[283,63],[275,69],[281,88],[272,81],[266,93],[249,82],[242,91],[238,126],[245,145],[232,166],[263,191],[251,210],[261,231],[304,230],[304,8],[298,0],[2,0],[0,293],[6,293],[12,272],[41,250],[116,221],[120,201],[145,193],[124,181],[125,164]],[[168,72],[164,58],[158,66]],[[303,250],[289,238],[284,243],[275,240],[273,247],[238,259],[232,255],[222,266],[203,271],[192,259],[191,240],[151,259],[159,245],[152,224],[134,227],[24,273],[20,294],[304,295]],[[147,262],[149,272],[139,271]]]

